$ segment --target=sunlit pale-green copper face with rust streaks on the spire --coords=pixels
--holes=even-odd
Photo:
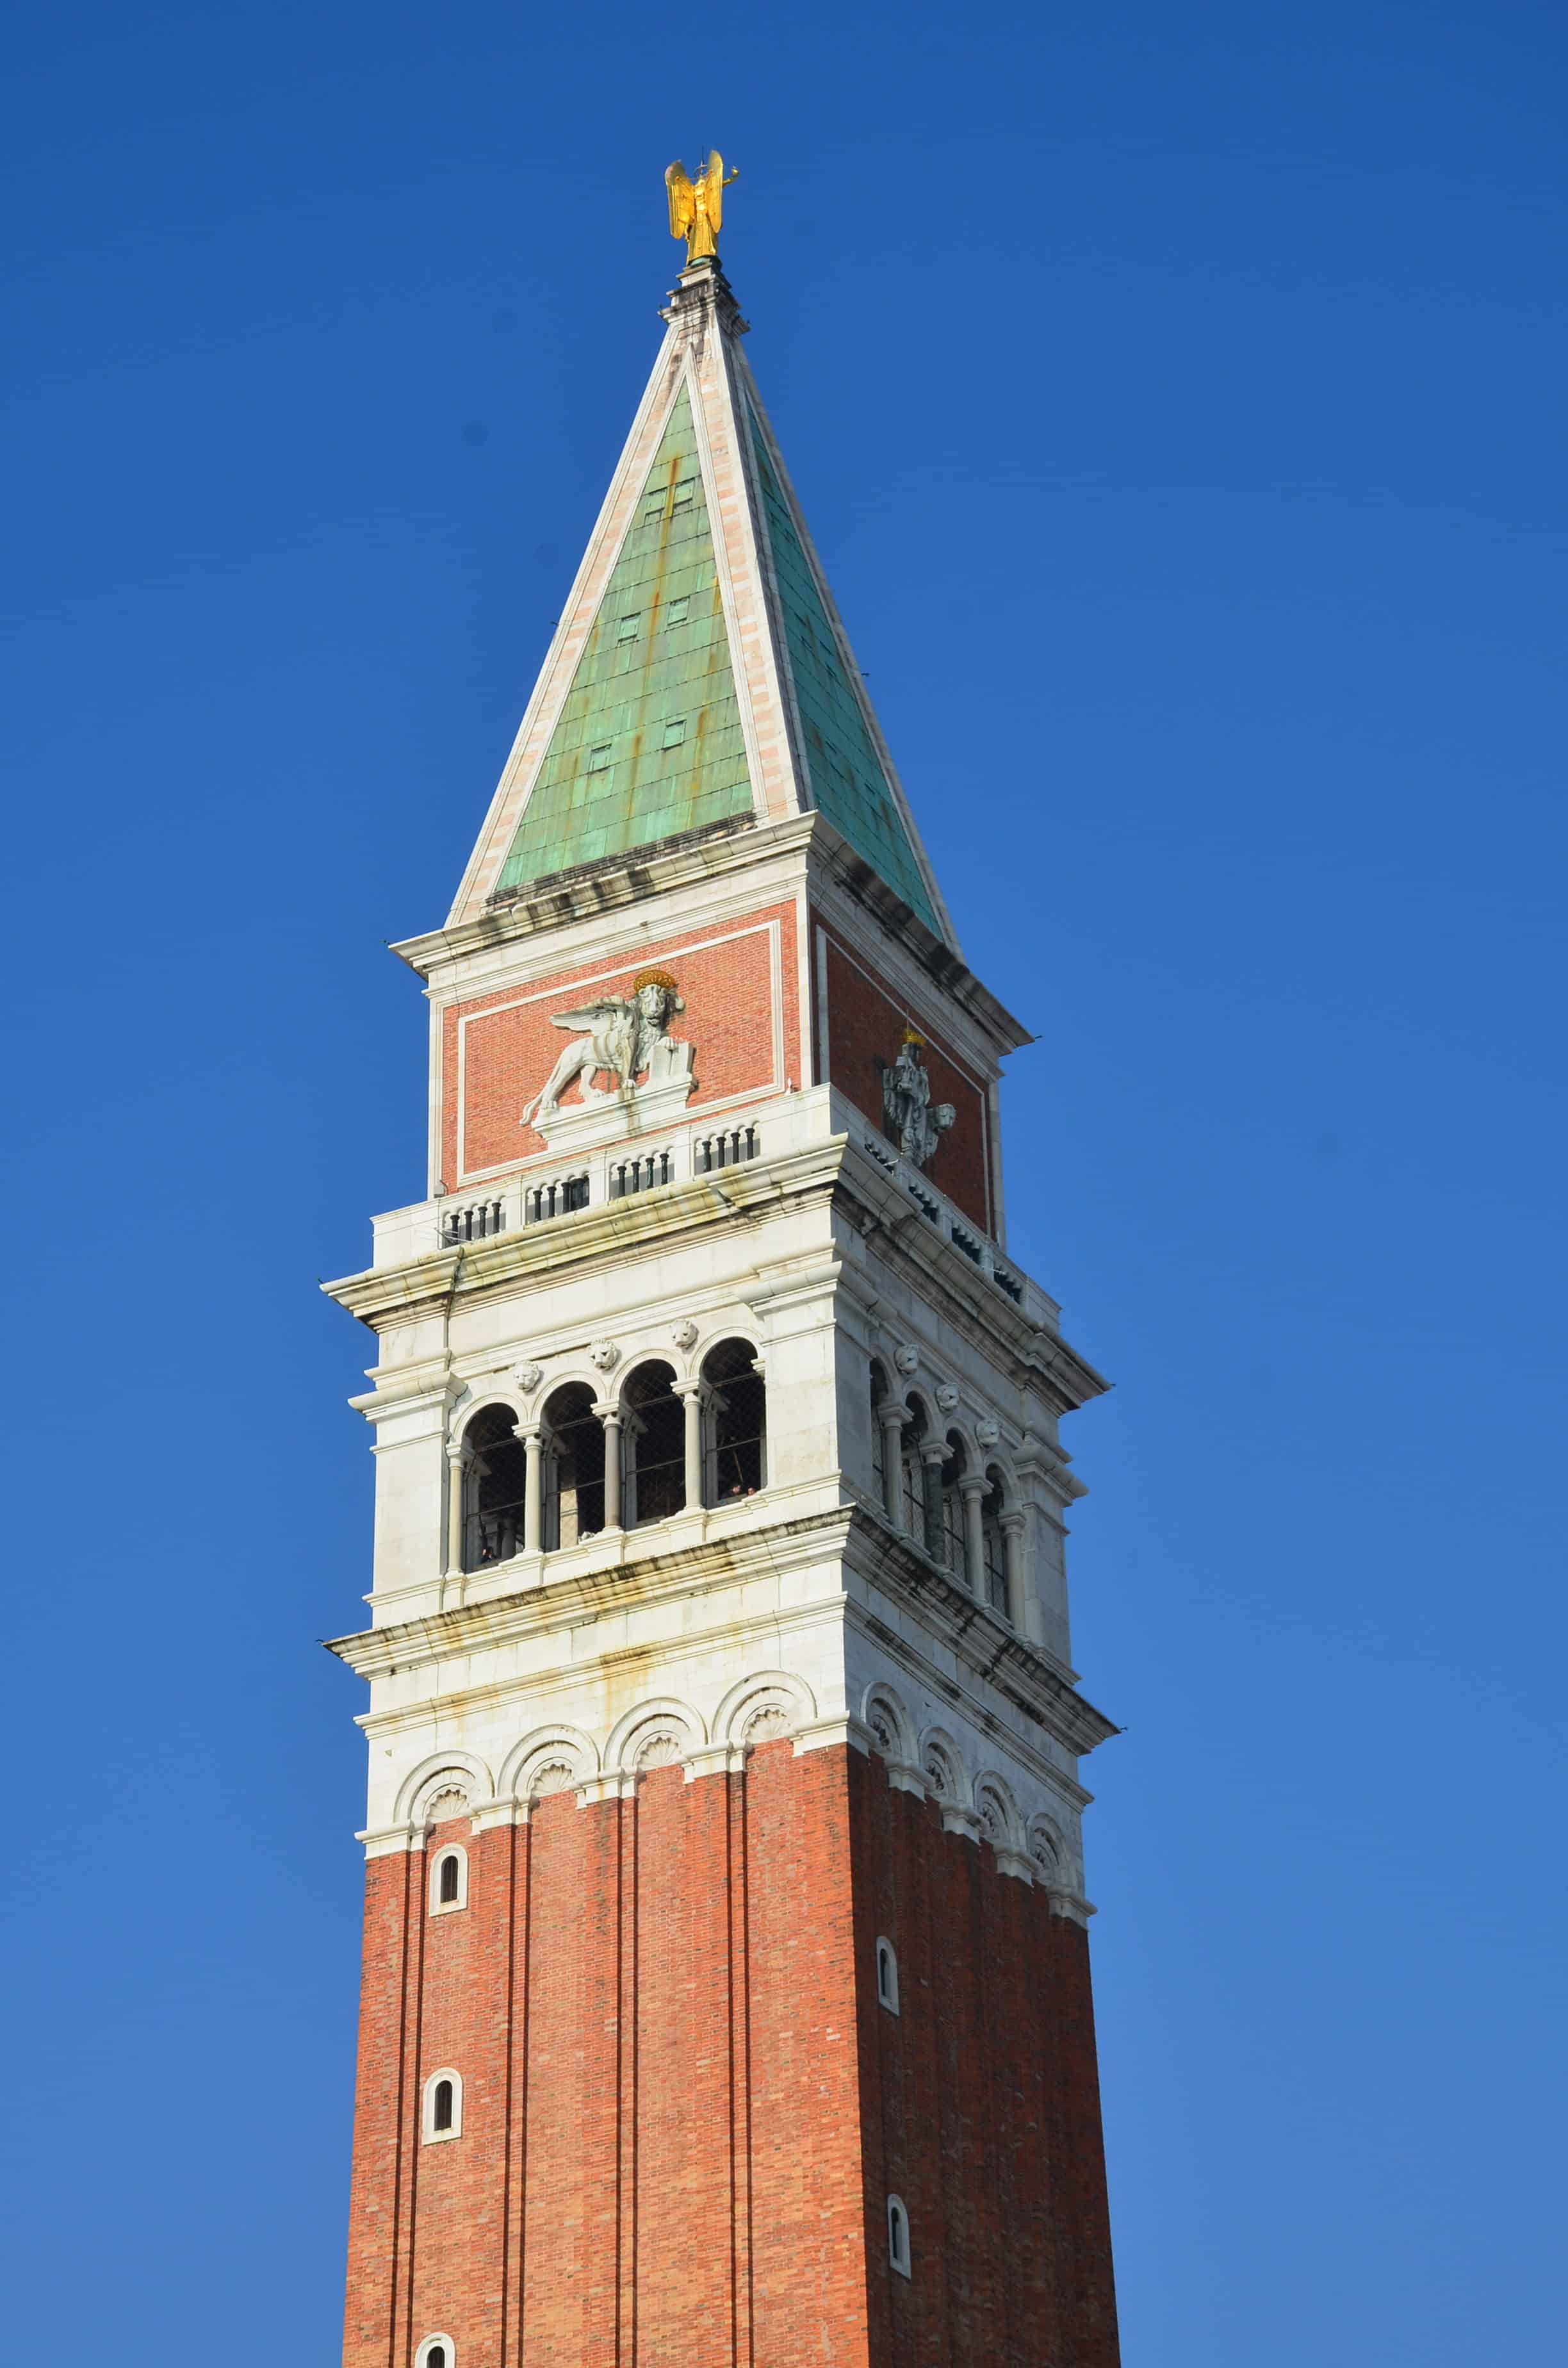
[[[751,810],[682,388],[497,888]]]

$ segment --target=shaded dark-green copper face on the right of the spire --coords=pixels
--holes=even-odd
[[[843,656],[827,620],[817,580],[805,564],[784,488],[767,459],[756,412],[751,412],[751,443],[763,483],[772,571],[779,580],[779,601],[784,606],[784,639],[789,642],[789,665],[796,677],[812,800],[834,829],[848,838],[855,852],[865,855],[888,888],[898,890],[905,905],[940,938],[940,921],[931,909],[910,834],[893,803],[893,791],[881,770],[881,758],[872,746],[860,701],[843,680]]]

